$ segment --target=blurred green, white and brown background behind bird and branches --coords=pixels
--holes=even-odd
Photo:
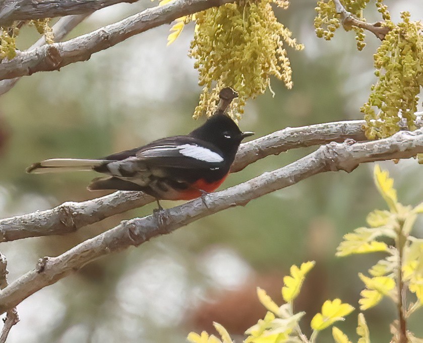
[[[400,11],[412,19],[423,15],[421,0],[386,1],[394,21]],[[373,53],[380,43],[368,34],[368,46],[358,52],[353,33],[339,30],[326,42],[314,34],[313,0],[292,1],[277,11],[303,52],[288,50],[294,86],[291,91],[272,80],[267,92],[248,103],[240,127],[256,137],[286,126],[360,119],[373,75]],[[151,6],[142,0],[98,11],[69,37],[92,31]],[[380,18],[373,4],[368,21]],[[194,27],[189,25],[170,46],[170,26],[140,34],[83,63],[60,72],[25,77],[0,98],[0,215],[3,218],[44,210],[64,201],[82,201],[105,193],[85,186],[94,173],[28,175],[33,162],[54,157],[94,158],[130,149],[199,125],[191,115],[201,88],[193,60],[187,57]],[[38,38],[23,30],[19,47]],[[420,108],[421,110],[421,108]],[[306,155],[298,149],[268,157],[230,175],[228,187]],[[415,161],[383,163],[395,178],[405,204],[423,200],[421,166]],[[326,299],[341,298],[358,307],[363,288],[357,272],[366,271],[377,255],[335,258],[342,236],[365,225],[366,215],[383,208],[372,181],[373,165],[351,174],[326,173],[287,189],[199,220],[171,235],[138,248],[103,257],[18,306],[21,321],[9,342],[184,342],[190,330],[212,331],[212,321],[240,335],[265,311],[255,289],[260,286],[281,302],[282,278],[292,264],[316,260],[297,310],[309,322]],[[163,202],[172,207],[177,202]],[[151,214],[150,204],[114,216],[63,237],[32,238],[3,243],[9,261],[9,281],[34,267],[38,258],[55,256],[121,220]],[[415,234],[423,236],[421,220]],[[380,256],[379,256],[380,257]],[[356,340],[356,310],[338,326]],[[383,301],[365,313],[372,342],[390,339],[394,305]],[[423,335],[420,310],[410,323]],[[420,325],[419,325],[420,324]],[[237,336],[238,335],[238,336]],[[319,341],[329,340],[330,330]]]

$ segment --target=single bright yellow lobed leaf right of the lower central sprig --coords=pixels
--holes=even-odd
[[[322,312],[317,313],[311,322],[313,330],[321,331],[332,325],[335,321],[344,320],[344,316],[354,310],[349,304],[343,304],[340,299],[326,300],[322,306]]]

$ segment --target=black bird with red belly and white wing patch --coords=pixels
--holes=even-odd
[[[89,190],[143,191],[157,200],[194,199],[220,186],[241,141],[254,134],[241,132],[225,114],[236,96],[232,89],[224,88],[216,112],[188,135],[163,138],[103,159],[45,160],[34,163],[27,172],[94,170],[107,176],[93,179]]]

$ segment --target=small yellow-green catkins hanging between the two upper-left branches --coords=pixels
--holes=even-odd
[[[45,36],[47,44],[54,42],[53,32],[48,23],[50,18],[31,20],[27,24],[35,26],[37,31]],[[16,56],[16,38],[24,22],[14,22],[10,27],[0,27],[0,60],[12,59]]]

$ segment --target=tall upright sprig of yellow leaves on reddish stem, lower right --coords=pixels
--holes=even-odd
[[[377,165],[374,176],[389,211],[376,210],[370,213],[367,217],[369,227],[345,235],[336,254],[346,256],[384,251],[387,256],[368,270],[371,277],[359,273],[359,278],[366,286],[360,293],[360,309],[367,310],[377,305],[383,297],[388,297],[397,306],[402,306],[403,316],[408,318],[423,305],[423,239],[410,235],[417,215],[423,213],[423,202],[414,208],[404,206],[398,202],[393,188],[394,181],[388,172],[382,171]],[[392,245],[388,247],[386,243],[377,241],[380,237],[391,239]],[[414,294],[413,302],[407,302],[407,289],[408,296]],[[403,295],[401,302],[399,292]],[[391,327],[394,331],[398,329],[396,325]],[[397,332],[393,334],[395,342]]]

